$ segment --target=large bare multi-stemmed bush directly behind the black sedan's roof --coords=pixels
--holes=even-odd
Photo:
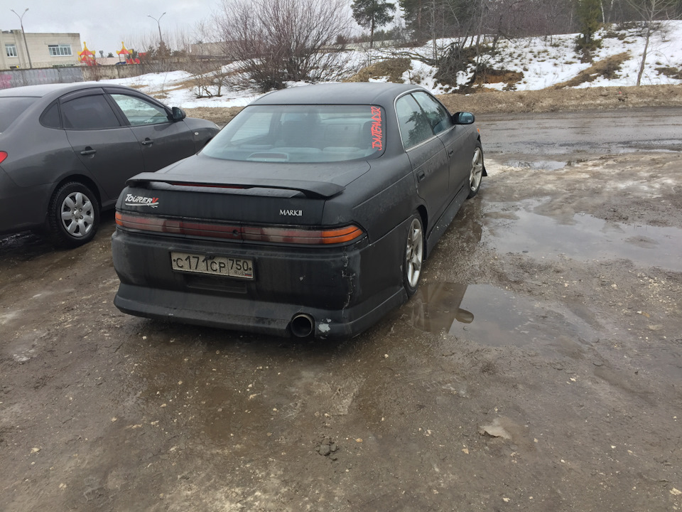
[[[215,24],[232,61],[232,86],[266,92],[288,81],[339,78],[331,50],[351,21],[344,0],[223,0]]]

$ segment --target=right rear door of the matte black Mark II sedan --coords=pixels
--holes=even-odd
[[[445,147],[435,137],[426,114],[411,95],[396,101],[396,114],[400,136],[407,152],[417,182],[417,193],[429,211],[429,217],[438,219],[448,204],[449,170]]]

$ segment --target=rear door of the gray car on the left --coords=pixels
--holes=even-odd
[[[131,129],[121,126],[102,92],[60,100],[63,126],[76,156],[97,183],[102,206],[116,201],[126,179],[144,171],[142,151]]]

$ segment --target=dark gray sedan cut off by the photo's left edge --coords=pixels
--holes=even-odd
[[[0,91],[0,234],[94,237],[126,179],[195,154],[218,132],[130,87],[54,84]]]

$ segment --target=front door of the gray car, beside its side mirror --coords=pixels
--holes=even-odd
[[[144,170],[158,171],[196,153],[194,137],[183,121],[172,121],[162,105],[145,98],[111,92],[135,134],[144,156]]]

